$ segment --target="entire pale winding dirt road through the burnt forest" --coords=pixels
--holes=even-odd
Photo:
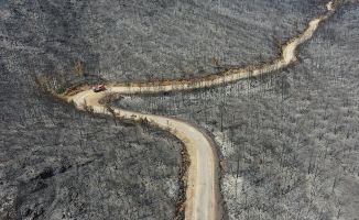
[[[171,90],[186,90],[205,88],[226,82],[232,82],[248,77],[257,77],[280,68],[286,67],[295,62],[295,50],[303,42],[312,37],[318,24],[326,20],[334,11],[333,3],[327,4],[328,12],[325,15],[313,19],[308,28],[297,37],[291,40],[282,50],[282,57],[257,68],[229,69],[221,76],[194,78],[185,81],[173,80],[165,84],[131,82],[128,85],[117,84],[108,87],[106,92],[95,94],[93,90],[80,91],[72,97],[78,109],[90,107],[95,113],[104,113],[126,119],[146,119],[151,124],[170,130],[181,139],[188,151],[191,165],[187,173],[187,189],[185,202],[185,218],[194,220],[217,220],[221,218],[222,206],[220,202],[218,184],[218,157],[215,146],[209,136],[199,128],[182,120],[145,114],[119,108],[108,108],[99,103],[109,94],[138,94],[138,92],[162,92]]]

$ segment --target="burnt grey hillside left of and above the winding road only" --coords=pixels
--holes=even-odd
[[[180,160],[172,156],[172,147],[177,152],[181,148],[175,140],[159,133],[149,138],[146,131],[129,124],[118,124],[121,132],[112,134],[108,122],[112,125],[119,122],[77,112],[43,95],[51,89],[101,78],[181,78],[216,72],[213,66],[257,64],[276,57],[276,43],[303,31],[307,20],[322,11],[315,1],[268,2],[218,6],[192,1],[3,0],[0,9],[1,217],[172,218]],[[206,26],[200,29],[202,24]],[[145,26],[148,34],[142,33]],[[178,28],[170,29],[173,26]],[[189,28],[191,32],[185,31]],[[196,42],[202,38],[203,44]],[[143,135],[141,142],[138,138]],[[144,150],[152,144],[156,147],[154,152],[161,150],[164,154]],[[135,151],[142,153],[133,154]],[[123,157],[115,158],[109,165],[113,155]],[[144,168],[144,174],[143,168],[132,167],[139,161],[142,167],[150,167]],[[153,161],[160,161],[156,167]],[[119,162],[127,165],[117,165]],[[108,194],[112,190],[108,183],[115,184],[116,196]]]

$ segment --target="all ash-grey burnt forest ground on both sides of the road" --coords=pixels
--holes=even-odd
[[[188,163],[178,139],[51,94],[260,66],[326,10],[323,0],[3,0],[0,217],[174,218]],[[206,129],[221,161],[224,219],[355,219],[357,14],[340,8],[297,62],[266,77],[111,105]]]

